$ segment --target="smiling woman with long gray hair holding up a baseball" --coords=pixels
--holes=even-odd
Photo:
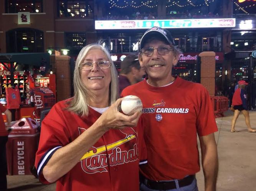
[[[139,190],[142,133],[132,127],[141,114],[120,113],[121,101],[109,52],[87,45],[76,60],[74,97],[55,104],[42,122],[39,180],[57,181],[61,191]]]

